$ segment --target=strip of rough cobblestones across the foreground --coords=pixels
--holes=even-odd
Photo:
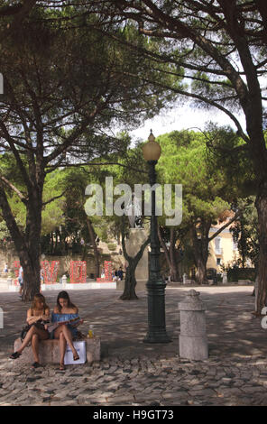
[[[178,356],[105,359],[99,364],[32,370],[0,365],[0,406],[266,406],[267,360],[207,360]]]

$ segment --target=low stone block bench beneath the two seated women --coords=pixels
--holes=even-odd
[[[87,364],[100,361],[100,336],[93,338],[85,338],[87,346]],[[79,340],[77,340],[79,341]],[[14,352],[16,352],[22,342],[20,338],[14,341]],[[60,362],[60,345],[58,339],[41,340],[39,342],[39,357],[41,364],[59,364]],[[34,362],[32,355],[32,346],[24,348],[22,355],[16,359],[16,363],[32,364]]]

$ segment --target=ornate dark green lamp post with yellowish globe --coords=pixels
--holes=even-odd
[[[143,145],[143,158],[148,162],[150,170],[150,185],[156,183],[155,166],[161,156],[161,146],[155,142],[151,134],[148,143]],[[148,332],[144,343],[170,343],[170,337],[165,325],[165,288],[160,269],[160,241],[158,237],[157,217],[155,214],[155,190],[152,190],[152,217],[151,217],[151,253],[149,265],[149,280],[146,283],[148,291]]]

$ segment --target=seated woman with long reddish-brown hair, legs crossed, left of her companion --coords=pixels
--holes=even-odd
[[[32,301],[32,308],[27,311],[27,323],[32,325],[32,327],[27,332],[22,346],[9,357],[11,359],[17,359],[20,355],[22,355],[23,349],[31,342],[34,357],[32,368],[38,368],[41,366],[38,352],[39,340],[46,340],[49,338],[49,332],[41,324],[41,321],[49,321],[49,319],[50,309],[46,304],[45,298],[41,293],[35,294]]]

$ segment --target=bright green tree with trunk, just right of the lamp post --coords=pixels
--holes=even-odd
[[[221,129],[221,135],[229,137],[228,133],[233,137],[233,131]],[[219,219],[225,225],[230,223],[223,217],[224,212],[231,209],[238,196],[237,186],[228,182],[228,168],[217,167],[208,150],[210,139],[212,134],[208,132],[193,131],[175,131],[157,139],[162,150],[158,165],[161,184],[182,185],[182,222],[170,228],[170,240],[174,244],[180,241],[182,247],[183,239],[189,238],[200,283],[206,280],[208,244],[218,234],[216,231],[210,236],[210,228]]]

